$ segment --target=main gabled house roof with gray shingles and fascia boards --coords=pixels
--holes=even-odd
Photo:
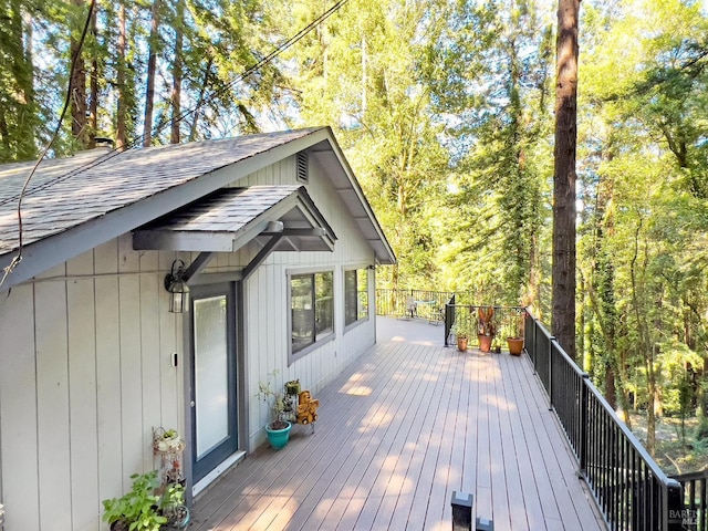
[[[316,157],[332,179],[378,262],[395,263],[396,257],[332,131],[315,127],[121,154],[84,152],[45,160],[22,200],[21,261],[17,260],[18,198],[33,164],[0,166],[0,275],[12,266],[0,289],[10,289],[302,150]],[[308,204],[306,194],[298,197]],[[303,208],[316,211],[309,204]],[[326,225],[323,218],[321,221]],[[303,243],[312,240],[316,238],[303,237]]]

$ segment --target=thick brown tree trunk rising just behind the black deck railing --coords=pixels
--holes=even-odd
[[[553,175],[553,335],[575,357],[575,143],[580,0],[559,0]]]

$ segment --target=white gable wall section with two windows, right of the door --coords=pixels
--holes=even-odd
[[[273,164],[238,186],[268,184],[292,185],[296,180],[295,157]],[[254,398],[259,382],[266,382],[274,369],[272,382],[279,389],[290,379],[316,397],[317,391],[375,343],[374,271],[369,271],[369,319],[344,326],[344,270],[375,263],[374,251],[356,228],[346,206],[314,157],[310,158],[310,178],[305,185],[315,206],[332,226],[337,240],[334,252],[274,252],[259,267],[244,285],[246,350],[249,382],[249,444],[258,447],[264,440],[263,426],[269,418],[267,405]],[[320,347],[289,364],[289,273],[333,271],[334,336]]]

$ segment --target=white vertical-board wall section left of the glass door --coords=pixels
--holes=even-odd
[[[174,253],[125,235],[0,301],[0,485],[8,530],[107,529],[101,500],[154,468],[153,427],[184,426]],[[103,525],[103,528],[102,528]]]

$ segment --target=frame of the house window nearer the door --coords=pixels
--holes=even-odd
[[[317,322],[316,322],[316,316],[317,316],[317,298],[316,298],[316,285],[317,285],[317,275],[324,275],[324,274],[330,274],[332,280],[331,280],[331,296],[329,298],[331,303],[330,303],[330,308],[331,308],[331,314],[330,314],[330,320],[331,320],[331,326],[329,326],[327,329],[325,329],[324,331],[320,331],[317,332],[316,327],[317,327]],[[310,310],[311,319],[312,319],[312,323],[314,326],[313,330],[313,341],[298,350],[294,348],[294,343],[293,343],[293,279],[298,278],[298,277],[310,277],[312,284],[311,284],[311,291],[310,291],[310,296],[311,296],[311,303],[312,303],[312,309]],[[288,356],[288,364],[290,365],[292,362],[308,355],[309,353],[311,353],[312,351],[319,348],[320,346],[322,346],[323,344],[333,341],[335,337],[335,302],[336,302],[336,295],[335,295],[335,275],[334,275],[334,270],[331,268],[319,268],[319,269],[306,269],[306,270],[292,270],[292,271],[288,271],[287,272],[287,290],[288,290],[288,306],[287,306],[287,311],[288,311],[288,352],[289,352],[289,356]]]

